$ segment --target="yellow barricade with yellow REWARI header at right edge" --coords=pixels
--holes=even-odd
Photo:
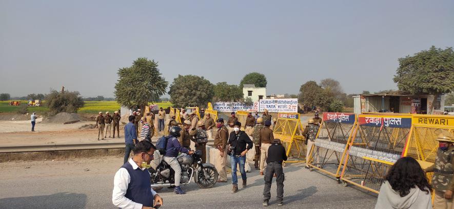
[[[439,147],[436,138],[441,130],[454,133],[454,116],[413,114],[411,123],[412,127],[404,156],[418,160],[424,169],[435,163]],[[430,182],[433,172],[428,172],[426,175]]]

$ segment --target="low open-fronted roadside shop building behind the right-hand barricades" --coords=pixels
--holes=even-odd
[[[354,113],[394,112],[427,114],[434,95],[406,95],[399,92],[354,96]],[[443,114],[445,95],[439,95],[432,114]]]

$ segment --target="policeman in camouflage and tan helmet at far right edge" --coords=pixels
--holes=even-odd
[[[439,148],[435,157],[435,164],[427,168],[432,172],[432,189],[435,191],[433,200],[434,209],[453,209],[452,192],[454,191],[454,135],[442,130],[438,135]]]

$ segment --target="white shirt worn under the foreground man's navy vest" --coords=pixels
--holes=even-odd
[[[132,169],[137,169],[139,166],[135,164],[132,158],[129,158],[128,162],[132,165]],[[145,168],[139,168],[145,170]],[[116,207],[123,209],[141,209],[142,204],[133,202],[132,200],[125,197],[126,190],[128,189],[128,184],[131,182],[131,176],[125,168],[120,168],[113,178],[113,191],[112,191],[112,203]],[[150,188],[151,189],[151,188]],[[151,194],[153,197],[156,195],[156,192],[151,189]]]

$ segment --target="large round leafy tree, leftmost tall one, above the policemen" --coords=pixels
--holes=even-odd
[[[144,108],[165,94],[168,82],[162,77],[157,62],[145,57],[137,58],[130,67],[120,68],[115,84],[115,100],[129,108]]]

